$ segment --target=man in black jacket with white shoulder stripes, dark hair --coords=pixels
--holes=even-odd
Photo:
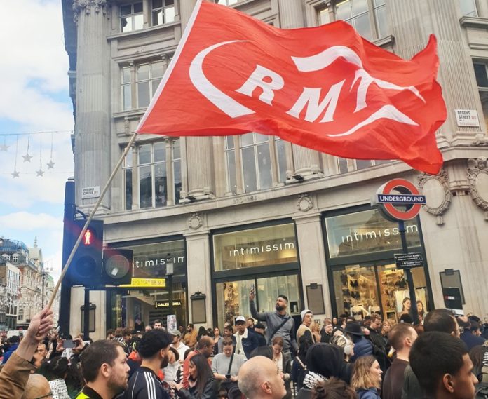
[[[128,388],[122,399],[170,398],[170,393],[161,384],[158,372],[168,365],[168,351],[171,342],[172,335],[163,330],[151,330],[142,336],[137,347],[142,363],[130,377]]]

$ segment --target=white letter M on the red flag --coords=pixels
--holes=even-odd
[[[334,120],[334,112],[339,101],[339,95],[341,94],[341,88],[344,85],[344,81],[335,83],[330,87],[325,98],[320,102],[320,88],[304,87],[297,102],[294,103],[292,109],[287,111],[287,114],[299,118],[301,111],[306,108],[305,120],[309,122],[315,122],[316,119],[325,110],[325,115],[320,122],[332,122]],[[308,107],[307,107],[308,105]]]

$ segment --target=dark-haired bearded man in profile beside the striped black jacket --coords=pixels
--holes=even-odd
[[[127,388],[130,367],[123,346],[107,339],[96,341],[81,354],[86,381],[76,399],[112,399]]]

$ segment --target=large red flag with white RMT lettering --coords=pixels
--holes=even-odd
[[[137,133],[251,131],[327,154],[438,173],[446,119],[435,37],[405,61],[337,21],[278,29],[199,1]]]

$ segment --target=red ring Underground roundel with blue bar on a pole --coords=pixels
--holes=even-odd
[[[409,220],[419,215],[426,197],[408,180],[393,179],[379,187],[374,203],[388,219]]]

